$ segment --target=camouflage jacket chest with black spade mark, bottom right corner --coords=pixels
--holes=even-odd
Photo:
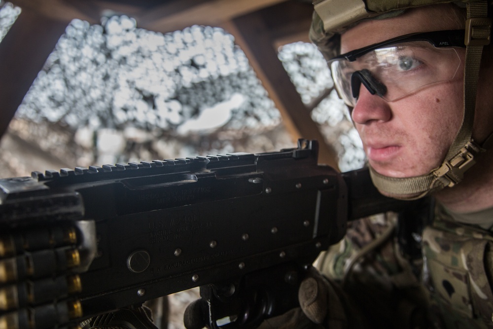
[[[440,328],[492,328],[491,232],[453,221],[440,208],[423,232],[423,283]]]

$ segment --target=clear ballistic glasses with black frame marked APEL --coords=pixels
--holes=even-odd
[[[465,48],[464,30],[415,33],[395,37],[339,55],[329,61],[339,96],[354,107],[361,84],[387,102],[454,79]]]

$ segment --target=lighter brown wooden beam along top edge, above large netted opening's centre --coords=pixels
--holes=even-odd
[[[197,4],[197,0],[180,0],[179,6],[186,9],[176,12],[176,3],[164,4],[135,18],[144,29],[166,33],[195,24],[218,26],[235,17],[284,1],[286,0],[208,0]],[[170,15],[170,12],[174,14]]]

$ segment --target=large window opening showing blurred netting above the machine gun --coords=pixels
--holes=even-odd
[[[293,146],[233,36],[127,16],[73,20],[9,132],[69,167]]]

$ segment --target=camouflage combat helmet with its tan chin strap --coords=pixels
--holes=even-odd
[[[310,38],[326,60],[340,55],[340,35],[366,19],[400,15],[405,10],[437,3],[455,3],[467,8],[464,45],[464,111],[462,125],[442,164],[428,174],[409,178],[393,178],[370,167],[377,188],[400,199],[416,199],[463,179],[464,172],[475,162],[475,156],[493,146],[493,134],[483,145],[472,140],[476,107],[478,75],[483,46],[490,43],[492,18],[488,15],[490,0],[314,0],[315,12]]]

